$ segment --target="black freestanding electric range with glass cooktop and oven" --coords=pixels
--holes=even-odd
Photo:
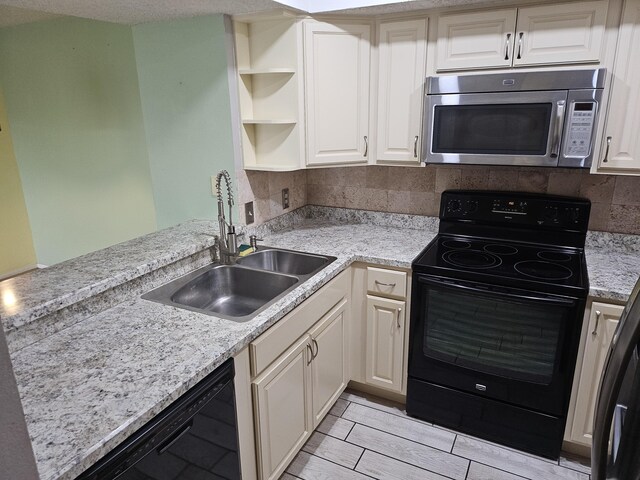
[[[588,200],[449,190],[412,264],[409,415],[560,453],[586,297]]]

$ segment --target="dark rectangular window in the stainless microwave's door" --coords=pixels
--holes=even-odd
[[[434,108],[434,153],[544,155],[551,103],[442,105]]]

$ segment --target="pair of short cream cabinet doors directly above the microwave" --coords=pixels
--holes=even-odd
[[[598,0],[441,15],[436,69],[599,63],[607,8]]]

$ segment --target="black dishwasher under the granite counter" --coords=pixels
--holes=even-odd
[[[78,479],[239,480],[233,376],[229,359]]]

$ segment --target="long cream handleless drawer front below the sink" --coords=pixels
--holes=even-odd
[[[256,376],[304,335],[349,292],[348,272],[342,272],[273,327],[251,342],[251,375]]]

